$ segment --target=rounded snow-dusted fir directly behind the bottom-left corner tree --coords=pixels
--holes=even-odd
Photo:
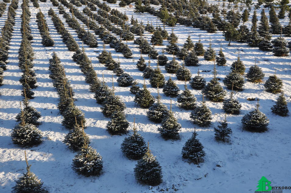
[[[42,142],[42,132],[35,125],[25,122],[22,107],[21,112],[21,121],[13,128],[11,133],[12,142],[23,147],[39,145]]]

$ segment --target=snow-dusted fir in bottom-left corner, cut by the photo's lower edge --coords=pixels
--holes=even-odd
[[[26,161],[26,173],[23,176],[19,177],[16,181],[15,186],[12,188],[13,193],[48,193],[48,190],[43,186],[43,182],[41,179],[30,171],[31,165],[28,165],[26,151],[25,153],[25,161]]]

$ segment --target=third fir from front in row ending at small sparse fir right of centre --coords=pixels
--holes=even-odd
[[[185,110],[193,110],[196,108],[197,99],[194,94],[187,88],[186,81],[185,81],[185,90],[177,97],[177,102],[179,103],[179,107]]]

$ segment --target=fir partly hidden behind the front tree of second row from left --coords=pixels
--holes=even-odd
[[[74,130],[70,130],[65,136],[63,143],[65,143],[73,151],[80,151],[85,142],[90,143],[89,136],[84,132],[83,125],[77,123],[75,119]]]

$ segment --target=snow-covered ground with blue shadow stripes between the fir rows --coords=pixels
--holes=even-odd
[[[16,25],[14,26],[13,38],[9,50],[8,69],[4,71],[3,86],[0,87],[0,192],[10,192],[11,187],[15,185],[14,180],[25,172],[24,148],[19,148],[14,145],[10,138],[10,133],[16,125],[15,116],[20,112],[19,101],[21,97],[21,85],[19,79],[22,72],[18,68],[18,49],[20,47],[21,33],[21,1],[19,8],[16,10]],[[217,3],[213,1],[213,3]],[[31,105],[41,112],[41,125],[39,129],[44,133],[44,142],[27,150],[27,158],[29,164],[32,165],[31,170],[44,181],[44,185],[48,187],[50,192],[254,192],[256,190],[257,181],[265,176],[271,181],[272,186],[291,186],[290,161],[291,161],[291,144],[290,144],[290,119],[289,117],[280,117],[271,113],[270,108],[274,105],[278,94],[271,94],[264,91],[263,83],[253,84],[245,82],[244,91],[235,93],[235,97],[242,104],[241,114],[228,115],[228,125],[232,128],[233,134],[231,141],[228,144],[218,143],[214,140],[213,127],[218,125],[218,121],[222,121],[225,114],[222,110],[222,103],[214,103],[207,101],[207,107],[213,113],[211,127],[200,128],[193,125],[190,121],[190,111],[182,110],[177,106],[177,98],[173,98],[172,111],[175,112],[178,122],[182,125],[180,132],[181,139],[178,141],[165,141],[161,138],[157,131],[159,124],[150,122],[146,117],[146,109],[141,109],[135,106],[133,99],[134,95],[129,92],[129,87],[119,87],[114,75],[114,87],[117,95],[124,100],[126,104],[127,120],[131,123],[130,129],[133,126],[133,120],[136,120],[136,128],[138,132],[150,142],[150,149],[156,159],[160,162],[163,171],[163,183],[156,187],[148,187],[138,184],[135,181],[133,169],[136,161],[128,160],[120,151],[120,144],[124,139],[123,136],[111,136],[106,131],[106,124],[110,120],[105,118],[101,113],[101,105],[96,104],[93,98],[94,94],[89,92],[89,86],[84,81],[84,75],[78,65],[71,60],[74,52],[68,51],[63,44],[60,35],[56,32],[55,27],[47,14],[47,11],[52,7],[57,13],[57,7],[53,7],[50,1],[39,2],[41,11],[45,14],[50,34],[55,40],[54,47],[43,47],[41,44],[41,36],[37,28],[36,13],[38,9],[34,8],[30,2],[31,11],[31,29],[34,37],[32,46],[34,48],[34,70],[37,74],[38,87],[34,90],[35,98],[31,100]],[[117,2],[118,4],[118,2]],[[9,5],[9,4],[8,4]],[[153,24],[162,26],[162,23],[155,16],[148,13],[137,14],[133,12],[134,8],[119,8],[118,5],[109,4],[111,8],[117,8],[121,12],[126,12],[129,18],[133,15],[138,21],[153,21]],[[8,6],[7,6],[8,7]],[[84,6],[83,6],[84,7]],[[81,11],[82,8],[79,8]],[[68,12],[68,9],[66,9]],[[7,10],[5,11],[7,14]],[[246,23],[251,25],[251,16]],[[266,12],[268,15],[268,11]],[[260,18],[260,10],[257,12],[258,19]],[[65,26],[65,19],[59,15]],[[5,21],[5,14],[0,17],[0,26],[2,27]],[[282,21],[281,21],[282,20]],[[286,19],[280,19],[282,24],[288,23]],[[80,21],[79,21],[80,22]],[[81,23],[81,22],[80,22]],[[86,28],[86,25],[84,26]],[[166,26],[168,33],[171,33],[171,27]],[[82,46],[81,40],[77,38],[77,34],[73,29],[68,27],[68,30],[77,40],[77,43]],[[259,51],[256,47],[249,47],[244,43],[233,42],[232,46],[227,46],[228,42],[224,40],[222,32],[211,34],[203,30],[198,30],[192,27],[177,25],[174,26],[174,33],[179,37],[178,45],[182,46],[185,39],[190,34],[191,39],[195,42],[201,40],[204,47],[209,45],[209,37],[211,37],[212,47],[219,51],[220,43],[224,54],[227,58],[227,66],[217,67],[218,77],[223,79],[230,71],[230,65],[236,60],[238,51],[240,58],[246,65],[246,72],[250,66],[254,64],[255,58],[257,65],[263,68],[265,73],[264,81],[269,75],[276,74],[283,80],[284,91],[289,102],[288,107],[291,110],[290,94],[291,94],[291,72],[290,62],[291,57],[275,57],[272,52]],[[145,33],[146,38],[150,40],[151,34]],[[278,35],[273,35],[273,38]],[[285,37],[290,41],[290,37]],[[102,41],[99,40],[97,48],[89,48],[84,45],[88,57],[92,57],[93,67],[98,74],[99,79],[104,73],[104,77],[109,86],[112,85],[112,71],[106,70],[104,65],[100,64],[96,56],[98,51],[102,51]],[[116,53],[113,48],[106,45],[106,50],[111,51],[113,58],[121,62],[121,68],[143,83],[142,72],[139,72],[135,64],[140,57],[140,52],[137,45],[132,44],[133,41],[128,41],[128,46],[131,48],[134,58],[126,59],[121,53]],[[164,40],[163,46],[156,46],[159,54],[162,48],[168,44]],[[71,85],[77,99],[77,107],[84,112],[88,128],[85,132],[91,139],[91,146],[97,149],[97,152],[103,157],[103,174],[100,177],[83,177],[76,174],[71,169],[72,159],[75,155],[62,142],[64,136],[68,132],[61,125],[62,116],[59,114],[56,105],[58,103],[58,95],[52,86],[52,81],[48,77],[48,59],[51,58],[53,51],[56,51],[62,64],[65,67],[66,76],[71,81]],[[96,52],[97,51],[97,52]],[[172,59],[170,54],[167,54],[169,60]],[[146,61],[149,60],[146,55],[143,55]],[[196,75],[198,68],[202,70],[212,70],[213,62],[205,61],[203,57],[199,57],[201,64],[199,67],[189,67],[193,76]],[[151,66],[156,67],[156,60],[151,60]],[[180,61],[181,63],[181,61]],[[166,80],[169,79],[164,67],[160,67]],[[206,78],[207,82],[213,77],[211,72],[202,72],[201,75]],[[181,90],[184,89],[184,82],[178,81],[174,74],[171,75]],[[157,89],[152,88],[149,81],[146,80],[146,85],[151,93],[156,96]],[[188,88],[190,86],[188,84]],[[224,87],[225,88],[225,87]],[[225,88],[226,89],[226,88]],[[198,101],[202,100],[201,91],[191,90],[195,94]],[[228,96],[230,90],[228,91]],[[159,90],[162,93],[162,89]],[[170,108],[170,97],[161,94],[161,101]],[[260,111],[265,113],[270,119],[269,130],[264,133],[252,133],[243,131],[241,128],[241,118],[244,114],[253,110],[257,101],[246,100],[249,97],[257,97],[260,102]],[[289,126],[288,126],[289,125]],[[187,139],[190,138],[196,126],[198,138],[204,146],[206,152],[205,163],[200,164],[200,167],[192,163],[188,163],[181,157],[181,149]],[[131,131],[129,135],[131,135]],[[222,167],[217,167],[217,164]],[[168,191],[167,191],[168,188]],[[283,191],[288,192],[288,190]]]

